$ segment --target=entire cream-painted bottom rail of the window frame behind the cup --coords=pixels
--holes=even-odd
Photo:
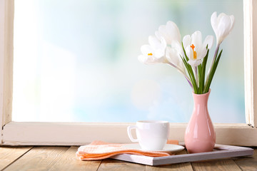
[[[4,126],[4,145],[86,145],[94,140],[131,142],[134,123],[15,123]],[[169,139],[183,142],[186,123],[171,123]],[[257,129],[246,124],[214,124],[216,143],[257,146]]]

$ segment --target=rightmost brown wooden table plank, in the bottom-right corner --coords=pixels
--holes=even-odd
[[[257,170],[257,148],[254,150],[254,154],[251,157],[235,157],[233,160],[241,170]]]

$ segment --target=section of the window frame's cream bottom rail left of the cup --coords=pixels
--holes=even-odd
[[[4,145],[85,145],[129,142],[126,123],[15,123],[4,127]]]

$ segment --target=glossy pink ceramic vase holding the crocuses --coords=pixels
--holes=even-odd
[[[194,108],[186,127],[185,144],[189,153],[211,152],[216,142],[216,134],[208,113],[208,96],[193,93]]]

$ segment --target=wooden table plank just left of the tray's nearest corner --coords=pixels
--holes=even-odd
[[[111,171],[144,171],[145,165],[138,165],[131,162],[123,162],[120,160],[105,159],[97,171],[111,170]]]

